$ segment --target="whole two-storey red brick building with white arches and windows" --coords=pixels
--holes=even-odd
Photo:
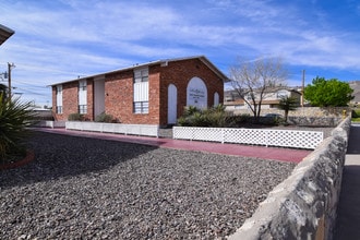
[[[204,56],[153,61],[52,84],[56,120],[79,112],[87,120],[105,112],[118,122],[168,125],[185,106],[223,103],[228,81]]]

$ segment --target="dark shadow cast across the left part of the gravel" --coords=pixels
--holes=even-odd
[[[108,140],[34,132],[27,145],[35,159],[0,171],[0,188],[103,171],[157,147]]]

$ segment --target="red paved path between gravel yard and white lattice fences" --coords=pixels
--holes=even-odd
[[[58,134],[146,144],[146,145],[158,146],[158,147],[208,152],[208,153],[226,154],[226,155],[233,155],[233,156],[244,156],[244,157],[257,157],[257,158],[262,158],[262,159],[291,161],[291,163],[300,163],[305,156],[308,156],[311,153],[311,151],[307,151],[307,149],[289,149],[289,148],[280,148],[280,147],[249,146],[249,145],[240,145],[240,144],[221,144],[221,143],[183,141],[183,140],[172,140],[172,139],[133,136],[133,135],[130,136],[130,135],[111,134],[111,133],[71,131],[71,130],[65,130],[65,129],[45,129],[44,128],[44,129],[36,129],[36,130],[44,131],[44,132],[50,132],[50,133],[58,133]]]

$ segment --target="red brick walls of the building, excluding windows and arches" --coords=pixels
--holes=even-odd
[[[214,105],[214,93],[224,98],[223,81],[201,60],[190,59],[169,62],[167,67],[149,67],[148,113],[133,113],[133,70],[106,74],[105,76],[105,111],[122,123],[167,124],[168,86],[175,84],[178,89],[178,117],[187,105],[187,86],[192,77],[200,77],[207,87],[207,105]],[[77,112],[79,81],[62,85],[63,113],[55,115],[57,120],[67,120],[70,113]],[[52,87],[53,111],[56,110],[56,87]],[[94,81],[87,80],[87,115],[94,120]]]

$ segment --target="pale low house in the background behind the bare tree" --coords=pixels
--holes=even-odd
[[[276,87],[269,89],[265,97],[262,100],[261,108],[262,109],[272,109],[277,108],[281,97],[295,97],[298,99],[300,104],[301,93],[298,88],[291,87]],[[249,96],[250,98],[250,96]],[[255,95],[256,98],[256,95]],[[251,101],[250,101],[251,103]],[[241,109],[249,109],[248,104],[240,98],[239,94],[236,91],[226,91],[225,92],[225,101],[224,105],[226,106],[227,110],[241,110]]]

